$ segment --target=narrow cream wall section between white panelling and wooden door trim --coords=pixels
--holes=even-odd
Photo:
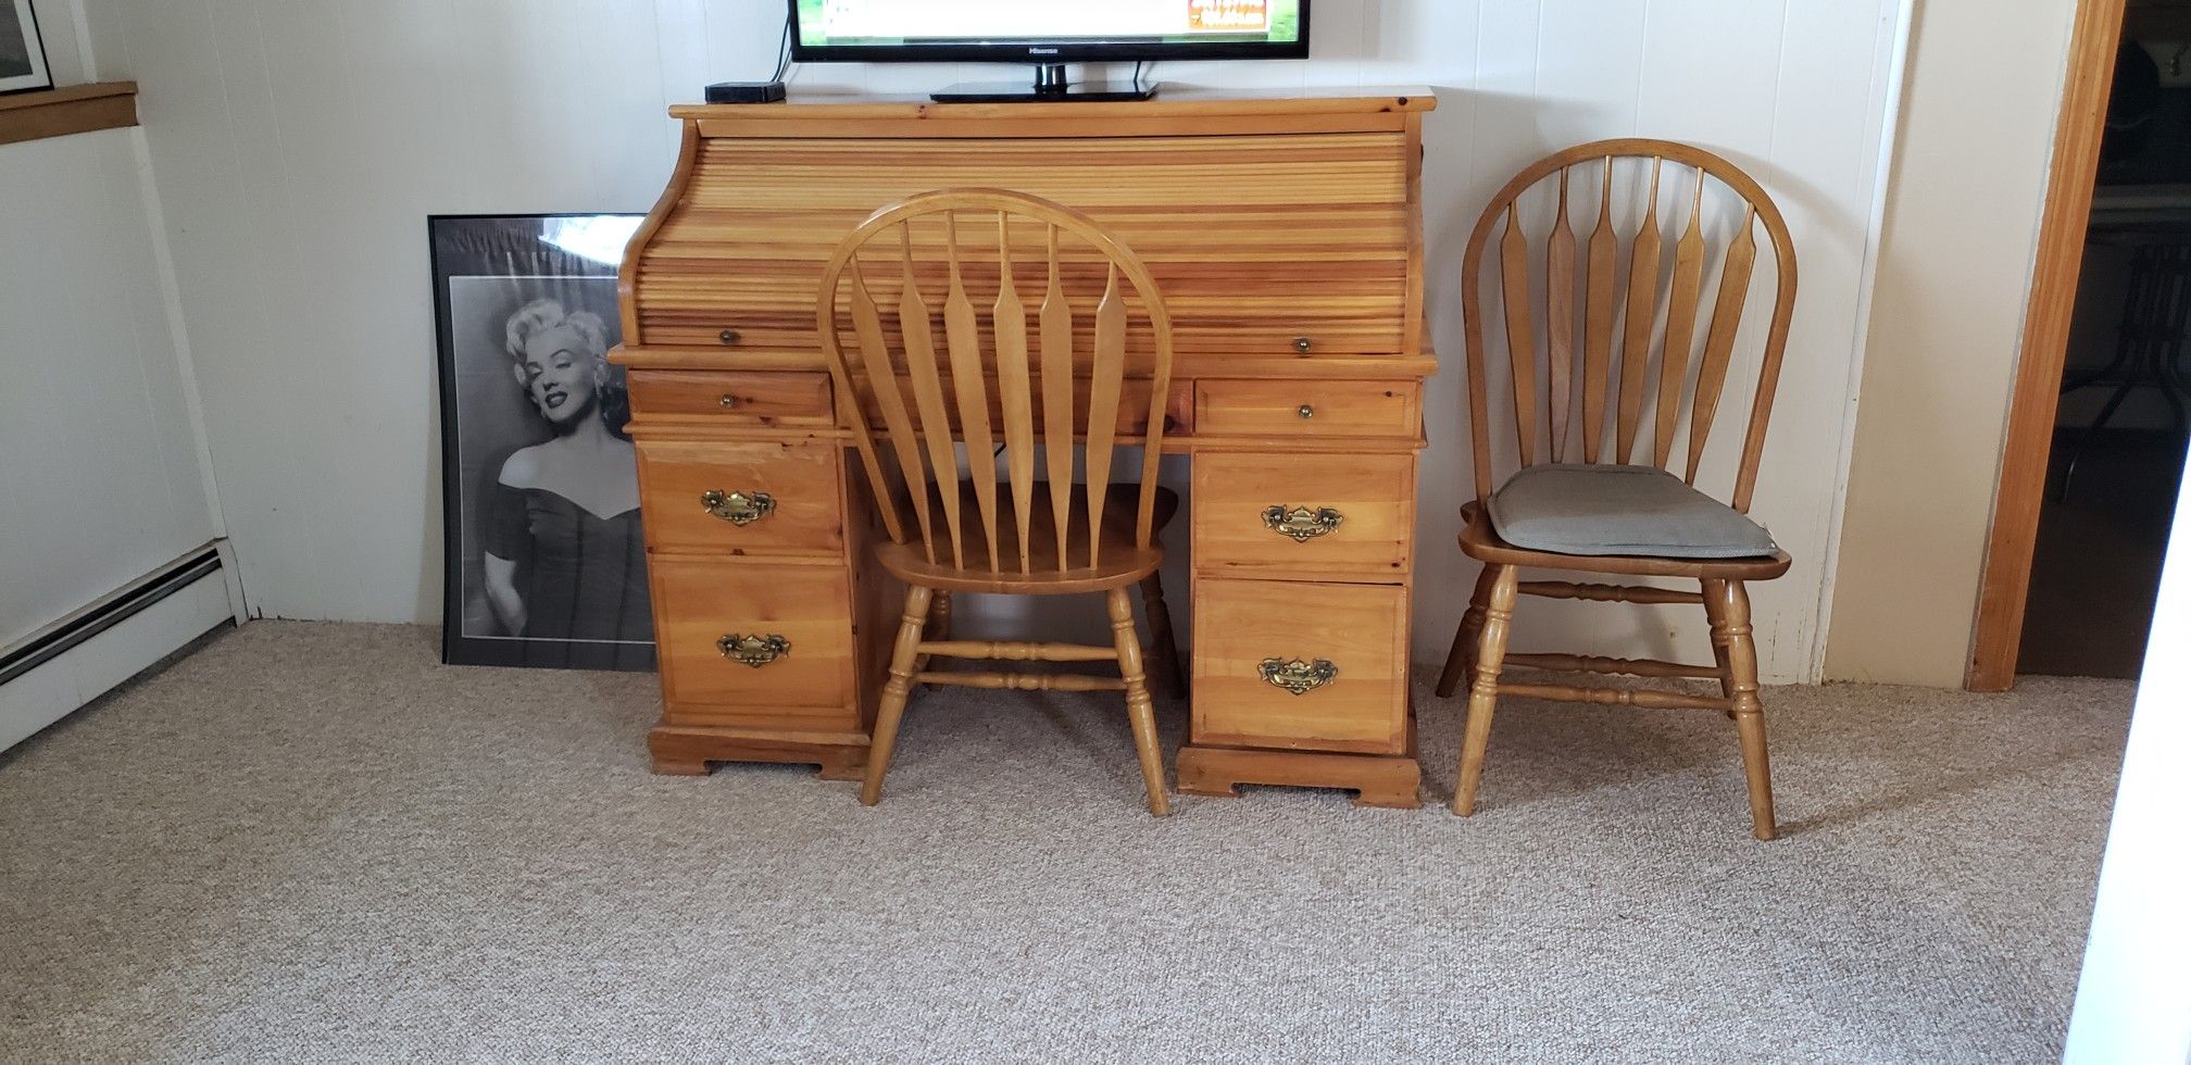
[[[1827,677],[1963,684],[2075,7],[1919,7]]]

